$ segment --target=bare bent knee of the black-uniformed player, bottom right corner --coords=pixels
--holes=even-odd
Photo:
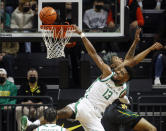
[[[134,131],[157,131],[156,127],[153,126],[146,119],[141,118],[139,122],[134,126]]]

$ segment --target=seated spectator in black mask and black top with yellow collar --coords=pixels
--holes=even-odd
[[[36,69],[31,68],[27,72],[27,82],[24,85],[21,85],[18,96],[46,96],[47,89],[46,86],[39,82],[38,72]],[[18,103],[21,104],[43,104],[44,100],[42,99],[21,99]],[[29,118],[37,119],[43,113],[43,107],[16,107],[16,120],[18,124],[18,131],[21,131],[21,117],[22,115],[29,116]]]

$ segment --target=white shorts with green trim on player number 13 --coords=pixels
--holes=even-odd
[[[86,98],[80,99],[76,103],[68,105],[76,114],[78,120],[85,131],[104,131],[101,124],[101,115]]]

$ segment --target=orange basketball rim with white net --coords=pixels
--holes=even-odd
[[[74,32],[74,26],[41,25],[40,28],[47,48],[47,58],[65,57],[64,48]]]

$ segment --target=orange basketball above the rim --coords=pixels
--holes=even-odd
[[[53,24],[57,19],[57,13],[52,7],[44,7],[40,13],[40,20],[43,24]]]

